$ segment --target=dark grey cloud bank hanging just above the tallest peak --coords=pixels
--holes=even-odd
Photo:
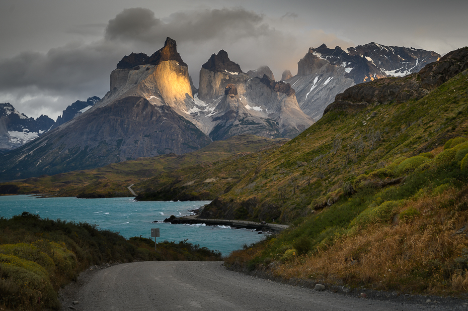
[[[166,37],[183,42],[236,40],[274,33],[264,16],[242,8],[178,12],[162,20],[151,10],[125,9],[109,21],[106,39],[153,42]]]

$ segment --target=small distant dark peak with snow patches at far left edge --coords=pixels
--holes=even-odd
[[[0,103],[0,153],[18,148],[50,130],[54,124],[47,116],[28,118],[10,103]]]

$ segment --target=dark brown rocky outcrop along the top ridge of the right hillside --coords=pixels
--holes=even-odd
[[[419,73],[361,83],[336,96],[324,114],[332,110],[361,109],[368,105],[418,100],[456,74],[468,69],[468,48],[452,51],[427,64]]]

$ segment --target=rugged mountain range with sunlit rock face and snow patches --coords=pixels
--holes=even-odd
[[[378,48],[385,55],[378,54]],[[438,57],[374,43],[346,51],[322,45],[309,49],[296,76],[285,71],[283,77],[288,78],[275,81],[267,66],[244,73],[220,50],[202,65],[197,89],[176,42],[167,38],[150,56],[123,57],[101,100],[90,97],[73,103],[47,133],[40,130],[43,135],[3,155],[0,180],[183,154],[241,134],[294,138],[347,87],[402,75],[403,67],[417,71]]]

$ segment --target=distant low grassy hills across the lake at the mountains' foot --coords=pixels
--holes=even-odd
[[[285,139],[272,140],[254,135],[231,137],[183,155],[168,154],[107,165],[92,170],[44,175],[0,184],[2,194],[37,194],[81,197],[130,196],[127,186],[163,172],[194,164],[216,161],[233,154],[254,152]]]

